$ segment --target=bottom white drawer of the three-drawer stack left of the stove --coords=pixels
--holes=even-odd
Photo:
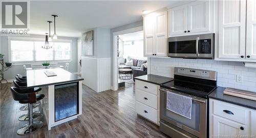
[[[136,101],[136,112],[141,116],[157,123],[157,110]]]

